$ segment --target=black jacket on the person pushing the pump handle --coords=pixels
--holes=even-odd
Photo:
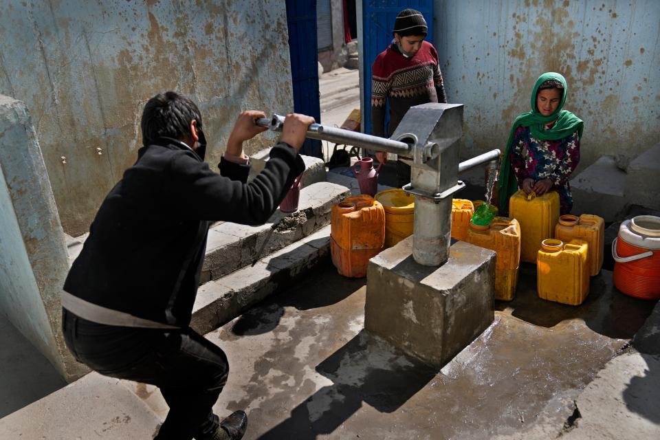
[[[104,199],[64,284],[96,305],[187,327],[210,221],[265,223],[305,163],[276,144],[249,184],[250,166],[221,159],[221,174],[185,144],[163,137]]]

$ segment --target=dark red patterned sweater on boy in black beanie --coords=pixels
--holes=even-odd
[[[438,52],[428,41],[412,58],[401,55],[395,43],[373,62],[371,78],[371,131],[390,137],[410,107],[426,102],[447,102]],[[390,104],[390,122],[385,131],[385,101]],[[386,135],[387,133],[387,135]]]

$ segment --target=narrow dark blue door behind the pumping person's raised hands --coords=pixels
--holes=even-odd
[[[289,55],[294,88],[294,111],[321,119],[318,96],[316,1],[287,0]],[[300,153],[322,157],[321,142],[307,139]]]

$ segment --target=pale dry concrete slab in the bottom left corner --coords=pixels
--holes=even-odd
[[[0,439],[151,439],[158,423],[120,380],[89,373],[0,419]]]

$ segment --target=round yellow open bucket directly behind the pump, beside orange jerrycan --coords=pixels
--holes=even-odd
[[[375,195],[385,210],[385,248],[412,234],[415,219],[415,196],[401,188],[384,190]]]

